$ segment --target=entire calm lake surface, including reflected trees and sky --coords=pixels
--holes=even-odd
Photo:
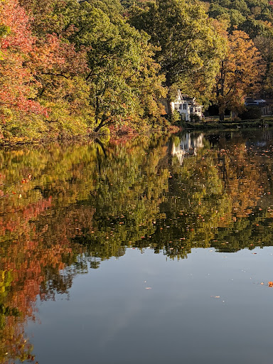
[[[0,151],[0,363],[272,364],[272,176],[269,129]]]

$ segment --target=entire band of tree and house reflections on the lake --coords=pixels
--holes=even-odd
[[[0,363],[36,360],[24,323],[38,296],[127,247],[272,245],[272,152],[268,129],[1,151]]]

